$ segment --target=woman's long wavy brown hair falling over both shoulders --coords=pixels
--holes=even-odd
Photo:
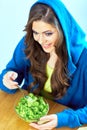
[[[25,27],[26,31],[26,49],[25,53],[27,58],[31,62],[30,72],[34,77],[34,82],[30,84],[28,87],[29,91],[34,85],[38,84],[33,92],[35,94],[39,94],[43,89],[44,84],[47,80],[46,75],[46,64],[49,59],[49,54],[45,53],[42,47],[36,42],[33,38],[32,32],[32,23],[37,20],[42,20],[46,23],[54,25],[59,30],[59,41],[55,46],[56,54],[58,56],[58,60],[56,62],[52,77],[51,77],[51,87],[52,87],[52,95],[54,98],[62,97],[67,88],[69,87],[69,77],[67,71],[67,50],[65,44],[65,38],[63,35],[62,28],[56,18],[56,15],[52,11],[50,7],[45,4],[35,4],[32,6],[29,19],[27,25]]]

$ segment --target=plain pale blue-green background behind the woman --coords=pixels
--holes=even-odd
[[[36,0],[0,0],[0,73],[24,35],[29,9]],[[87,0],[62,0],[87,33]]]

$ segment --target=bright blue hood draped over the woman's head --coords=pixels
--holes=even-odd
[[[61,0],[38,0],[36,3],[47,4],[55,12],[65,35],[69,57],[68,70],[70,75],[73,74],[76,70],[76,64],[81,56],[82,51],[84,48],[87,48],[85,33],[66,9]]]

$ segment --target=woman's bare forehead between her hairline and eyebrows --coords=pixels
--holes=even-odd
[[[43,22],[43,21],[34,21],[32,24],[32,29],[37,32],[56,30],[55,26],[48,24],[46,22]]]

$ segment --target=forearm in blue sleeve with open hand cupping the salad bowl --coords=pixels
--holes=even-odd
[[[47,122],[45,122],[47,121]],[[50,114],[40,118],[40,122],[45,123],[30,123],[29,125],[36,129],[43,128],[60,128],[60,127],[70,127],[75,128],[87,124],[87,106],[78,109],[76,111],[72,109],[65,109],[64,111],[57,114]]]

